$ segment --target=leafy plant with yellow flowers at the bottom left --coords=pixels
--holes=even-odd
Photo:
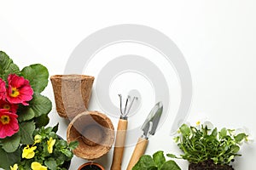
[[[56,134],[57,130],[58,125],[35,130],[33,144],[22,146],[22,159],[11,166],[11,170],[65,170],[65,163],[72,159],[72,150],[78,142],[67,144]]]

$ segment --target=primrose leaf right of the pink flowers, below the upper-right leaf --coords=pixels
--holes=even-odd
[[[47,115],[51,108],[51,101],[47,97],[34,93],[29,105],[20,107],[18,120],[23,122],[31,120],[33,117]]]

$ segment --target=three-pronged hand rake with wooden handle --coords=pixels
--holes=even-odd
[[[118,128],[117,128],[116,139],[115,139],[115,144],[114,144],[113,161],[112,161],[112,165],[111,165],[111,170],[120,170],[121,169],[124,147],[125,147],[126,129],[127,129],[127,125],[128,125],[127,116],[131,110],[131,106],[135,99],[137,99],[137,97],[133,97],[133,99],[131,99],[131,97],[128,95],[128,97],[125,101],[125,109],[123,111],[122,95],[119,94],[120,118],[119,118],[119,124],[118,124]],[[130,105],[128,106],[129,101],[130,101]]]

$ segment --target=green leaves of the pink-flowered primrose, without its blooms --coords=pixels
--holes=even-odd
[[[7,54],[0,51],[0,78],[7,83],[9,74],[16,74],[26,78],[33,89],[32,100],[29,105],[19,105],[17,115],[20,131],[11,137],[0,139],[0,167],[9,167],[10,162],[15,159],[20,161],[20,157],[12,156],[18,153],[21,144],[32,144],[32,133],[38,127],[46,126],[49,122],[49,111],[51,111],[51,101],[40,93],[48,84],[49,72],[44,65],[36,64],[26,66],[22,71],[15,65]],[[12,156],[12,161],[2,161],[3,157]]]

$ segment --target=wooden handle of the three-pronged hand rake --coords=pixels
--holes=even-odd
[[[113,150],[113,161],[111,165],[111,170],[121,170],[127,124],[127,120],[119,119],[119,125]]]

